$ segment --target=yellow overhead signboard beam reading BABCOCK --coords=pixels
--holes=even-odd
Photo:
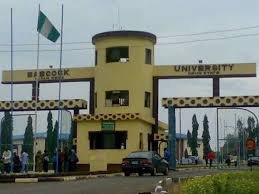
[[[94,67],[64,68],[64,69],[39,69],[39,82],[54,83],[59,81],[83,81],[94,78]],[[37,78],[37,70],[15,70],[13,71],[13,82],[15,84],[32,83]],[[2,83],[11,83],[11,71],[3,71]]]

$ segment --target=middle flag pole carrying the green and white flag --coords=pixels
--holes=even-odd
[[[39,12],[40,14],[40,4]],[[36,146],[37,146],[37,124],[38,124],[38,96],[39,96],[39,61],[40,61],[40,33],[37,37],[37,63],[36,63],[36,81],[35,81],[35,121],[34,121],[34,143],[33,143],[33,171],[36,169]]]

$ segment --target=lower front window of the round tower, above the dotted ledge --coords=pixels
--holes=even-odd
[[[129,106],[129,91],[106,91],[105,103],[106,106]]]

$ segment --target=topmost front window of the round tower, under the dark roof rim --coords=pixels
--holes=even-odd
[[[106,48],[106,63],[129,61],[129,47]]]

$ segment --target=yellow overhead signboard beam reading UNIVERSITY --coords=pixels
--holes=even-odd
[[[255,63],[162,65],[154,67],[154,76],[170,77],[256,77]]]

